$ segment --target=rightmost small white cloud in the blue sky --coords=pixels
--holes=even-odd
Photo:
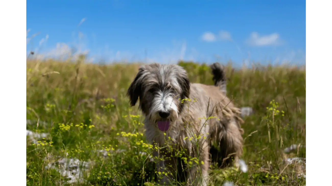
[[[252,46],[280,45],[282,41],[278,33],[260,36],[257,32],[252,32],[247,43]]]

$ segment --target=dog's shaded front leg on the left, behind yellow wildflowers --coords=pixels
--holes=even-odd
[[[172,182],[177,168],[177,159],[169,156],[170,154],[154,152],[154,157],[157,157],[157,176],[161,177],[160,183],[168,185]]]

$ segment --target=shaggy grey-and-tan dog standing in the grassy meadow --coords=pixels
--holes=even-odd
[[[147,141],[158,147],[154,152],[161,159],[156,163],[158,171],[169,172],[161,183],[167,185],[175,178],[173,149],[183,149],[187,162],[193,160],[186,171],[190,185],[207,185],[210,147],[214,147],[212,161],[222,160],[223,166],[236,165],[242,155],[241,111],[226,96],[220,64],[211,65],[211,69],[214,85],[205,85],[191,83],[186,70],[178,65],[145,65],[127,90],[131,106],[139,100]],[[173,145],[162,150],[167,139]]]

